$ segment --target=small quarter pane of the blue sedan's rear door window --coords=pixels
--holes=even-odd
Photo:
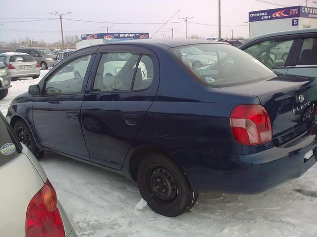
[[[150,87],[154,77],[154,65],[148,55],[142,55],[138,70],[135,74],[133,90],[146,89]]]

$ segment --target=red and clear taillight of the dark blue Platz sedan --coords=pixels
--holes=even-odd
[[[272,141],[272,125],[261,105],[238,105],[230,115],[234,138],[242,145],[259,145]]]

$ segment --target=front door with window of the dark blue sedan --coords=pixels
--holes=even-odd
[[[35,97],[34,126],[43,147],[90,160],[79,118],[94,55],[72,58],[48,76]]]

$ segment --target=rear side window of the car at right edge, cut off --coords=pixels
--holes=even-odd
[[[304,39],[297,65],[317,65],[317,37]]]

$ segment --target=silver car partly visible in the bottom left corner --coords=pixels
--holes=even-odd
[[[0,236],[76,237],[42,166],[0,112]]]

